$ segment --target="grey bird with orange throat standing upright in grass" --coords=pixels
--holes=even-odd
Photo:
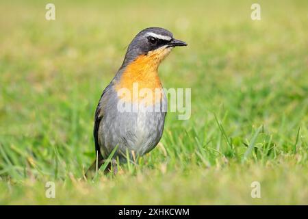
[[[120,163],[127,162],[127,158],[132,161],[149,153],[159,143],[168,101],[158,67],[174,47],[187,45],[162,27],[142,29],[133,38],[123,64],[103,90],[95,111],[96,159],[86,172],[87,178],[97,172],[112,153],[113,162],[105,168],[107,172],[115,157]],[[136,86],[138,94],[134,94]],[[147,95],[140,95],[142,90]]]

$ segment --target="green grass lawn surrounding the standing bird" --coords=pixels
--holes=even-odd
[[[261,21],[254,1],[53,2],[55,21],[49,1],[0,3],[0,204],[308,204],[307,1],[259,1]],[[150,26],[189,44],[159,74],[192,88],[192,116],[169,113],[137,165],[81,181],[101,92]]]

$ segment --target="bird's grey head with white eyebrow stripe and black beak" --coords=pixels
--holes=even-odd
[[[156,57],[163,60],[173,47],[183,47],[187,44],[173,38],[173,34],[160,27],[149,27],[140,31],[129,44],[125,62],[133,62],[140,55],[157,53]]]

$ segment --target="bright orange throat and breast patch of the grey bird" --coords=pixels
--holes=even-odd
[[[163,58],[164,54],[156,51],[131,62],[116,83],[119,98],[131,103],[145,100],[146,105],[161,101],[163,90],[157,69]]]

